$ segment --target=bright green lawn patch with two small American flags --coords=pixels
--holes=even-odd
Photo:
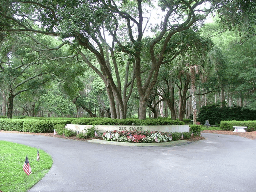
[[[23,170],[26,159],[32,173],[27,176]],[[0,190],[3,192],[26,192],[41,180],[52,166],[52,157],[40,150],[37,161],[37,148],[6,141],[0,141]]]

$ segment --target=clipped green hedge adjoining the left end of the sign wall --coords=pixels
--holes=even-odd
[[[57,124],[66,125],[67,123],[71,123],[71,121],[28,119],[28,120],[25,120],[23,123],[23,131],[34,132],[34,133],[53,132],[55,125]]]

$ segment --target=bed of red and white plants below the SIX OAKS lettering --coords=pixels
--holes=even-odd
[[[169,142],[180,139],[190,139],[192,132],[158,132],[158,131],[105,131],[103,140],[132,143]]]

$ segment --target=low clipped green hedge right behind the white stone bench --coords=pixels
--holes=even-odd
[[[221,121],[219,127],[222,130],[233,131],[233,126],[247,127],[246,131],[256,131],[256,121]]]

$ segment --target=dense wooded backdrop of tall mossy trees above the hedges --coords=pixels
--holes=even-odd
[[[253,1],[0,6],[0,115],[195,123],[207,105],[256,110]]]

